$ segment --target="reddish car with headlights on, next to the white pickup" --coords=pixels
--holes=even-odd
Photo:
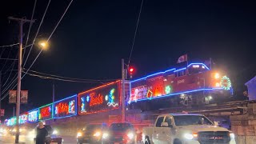
[[[136,142],[136,132],[131,123],[112,123],[106,134],[104,134],[103,142],[109,144],[134,144]]]

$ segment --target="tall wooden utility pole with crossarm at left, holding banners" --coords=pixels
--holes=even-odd
[[[16,134],[15,134],[15,143],[18,143],[19,138],[19,113],[20,113],[20,102],[21,102],[21,86],[22,86],[22,26],[26,22],[34,22],[24,19],[24,18],[13,18],[9,17],[9,20],[19,22],[19,49],[18,49],[18,83],[17,83],[17,99],[16,99]]]

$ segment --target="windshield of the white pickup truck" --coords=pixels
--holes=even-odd
[[[213,122],[202,115],[175,115],[174,122],[176,126],[214,125]]]

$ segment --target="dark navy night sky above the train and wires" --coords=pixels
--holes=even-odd
[[[38,0],[31,33],[34,39],[46,0]],[[69,0],[52,0],[38,38],[48,38]],[[31,70],[72,78],[121,78],[121,58],[128,61],[141,1],[139,0],[74,0],[62,22],[50,38]],[[0,46],[18,42],[18,24],[8,16],[30,18],[34,0],[8,0],[0,6]],[[236,94],[242,94],[244,83],[256,74],[256,9],[251,1],[236,0],[144,0],[131,64],[135,78],[166,70],[178,57],[188,54],[194,59],[213,58],[218,69],[226,70]],[[29,24],[24,25],[24,39]],[[17,47],[1,48],[1,58],[15,58]],[[3,52],[2,52],[3,51]],[[26,50],[26,55],[27,55]],[[38,54],[34,46],[25,68]],[[0,61],[2,82],[6,82],[12,63]],[[3,67],[3,68],[2,68]],[[17,65],[10,78],[16,74]],[[9,83],[9,81],[7,82]],[[22,90],[29,90],[29,104],[22,110],[50,103],[52,80],[26,76]],[[100,83],[56,82],[56,99],[87,90]],[[3,89],[5,86],[3,87]],[[2,101],[6,116],[14,104]]]

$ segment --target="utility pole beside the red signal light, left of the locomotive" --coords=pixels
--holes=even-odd
[[[122,122],[126,121],[125,60],[122,59]]]

